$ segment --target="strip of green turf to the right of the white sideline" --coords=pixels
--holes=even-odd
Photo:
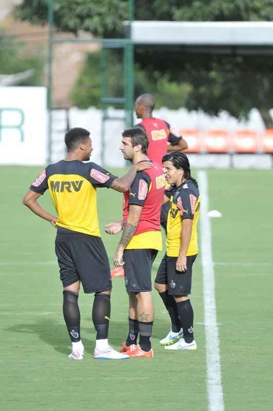
[[[227,263],[214,267],[225,406],[269,411],[273,173],[211,171],[208,177],[210,209],[223,213],[211,219],[213,260]]]

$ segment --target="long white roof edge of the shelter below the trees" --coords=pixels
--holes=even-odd
[[[133,21],[131,39],[134,44],[272,46],[273,22]]]

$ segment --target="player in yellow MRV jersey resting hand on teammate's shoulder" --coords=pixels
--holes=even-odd
[[[80,283],[85,293],[95,293],[93,323],[96,329],[94,358],[121,360],[129,356],[108,344],[110,266],[101,240],[97,213],[97,188],[129,190],[138,171],[150,168],[149,162],[132,165],[121,178],[104,170],[90,159],[93,151],[90,133],[84,128],[72,128],[65,134],[67,156],[49,164],[31,184],[23,203],[33,213],[57,227],[56,255],[63,283],[63,315],[72,343],[69,358],[82,360],[84,346],[80,333],[78,294]],[[38,198],[49,190],[57,217],[44,210]]]

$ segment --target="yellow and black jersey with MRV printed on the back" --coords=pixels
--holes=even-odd
[[[58,229],[100,237],[96,189],[109,188],[115,178],[93,162],[61,160],[49,164],[30,190],[40,194],[49,190],[58,214]]]

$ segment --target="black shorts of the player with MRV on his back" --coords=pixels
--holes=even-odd
[[[80,281],[85,293],[112,288],[110,265],[100,237],[57,233],[55,252],[64,287]]]

